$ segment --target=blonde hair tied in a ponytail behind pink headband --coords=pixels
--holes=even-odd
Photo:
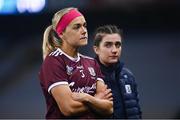
[[[77,8],[70,7],[70,8],[64,8],[56,12],[52,18],[52,24],[48,26],[44,31],[43,44],[42,44],[43,60],[50,52],[54,51],[57,47],[60,47],[62,45],[62,40],[55,31],[56,26],[60,21],[60,19],[72,9],[77,10]]]

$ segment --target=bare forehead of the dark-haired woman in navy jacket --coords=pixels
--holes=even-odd
[[[118,33],[106,34],[103,37],[102,42],[121,42],[121,36]]]

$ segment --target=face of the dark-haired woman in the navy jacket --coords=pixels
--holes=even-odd
[[[121,55],[121,36],[119,34],[106,34],[99,47],[94,46],[94,51],[105,66],[116,63]]]

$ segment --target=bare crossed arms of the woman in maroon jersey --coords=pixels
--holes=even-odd
[[[111,90],[101,81],[97,81],[95,96],[72,92],[68,85],[56,86],[52,88],[51,93],[65,116],[81,115],[92,109],[106,116],[113,112]]]

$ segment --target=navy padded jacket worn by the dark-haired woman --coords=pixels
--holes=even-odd
[[[133,74],[118,62],[106,67],[98,61],[104,75],[104,82],[112,90],[114,113],[112,118],[141,119],[137,84]]]

